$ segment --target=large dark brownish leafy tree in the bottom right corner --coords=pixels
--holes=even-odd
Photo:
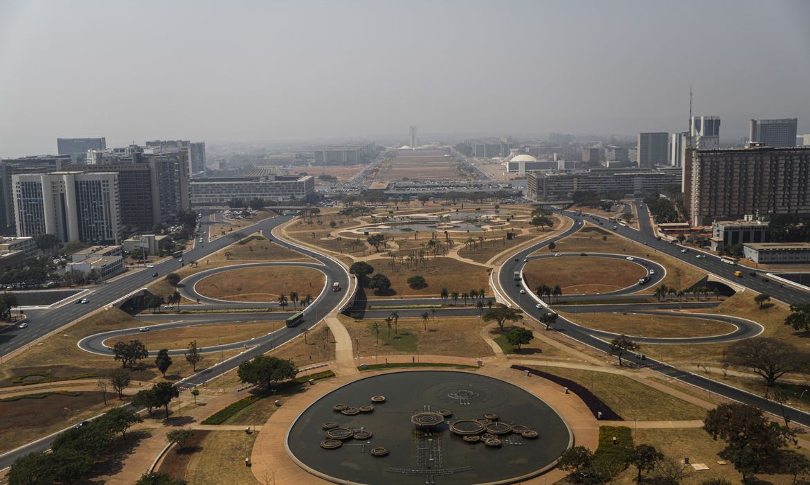
[[[777,423],[762,414],[762,410],[747,404],[721,404],[706,413],[703,429],[713,440],[727,443],[726,452],[735,469],[747,482],[765,464],[774,461],[785,438]]]

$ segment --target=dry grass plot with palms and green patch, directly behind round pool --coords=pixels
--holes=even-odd
[[[421,319],[400,318],[397,328],[393,328],[391,322],[390,333],[385,320],[355,322],[348,317],[341,318],[352,336],[355,354],[359,350],[360,357],[417,353],[458,357],[493,355],[492,347],[480,335],[483,323],[478,318],[440,316],[433,320],[431,317],[427,330]],[[379,325],[379,339],[374,323]]]

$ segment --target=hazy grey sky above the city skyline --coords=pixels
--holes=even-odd
[[[58,136],[810,132],[810,2],[0,0],[0,157]]]

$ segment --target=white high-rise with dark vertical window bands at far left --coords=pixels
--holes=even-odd
[[[63,243],[119,243],[121,204],[114,173],[13,175],[18,236],[55,234]]]

